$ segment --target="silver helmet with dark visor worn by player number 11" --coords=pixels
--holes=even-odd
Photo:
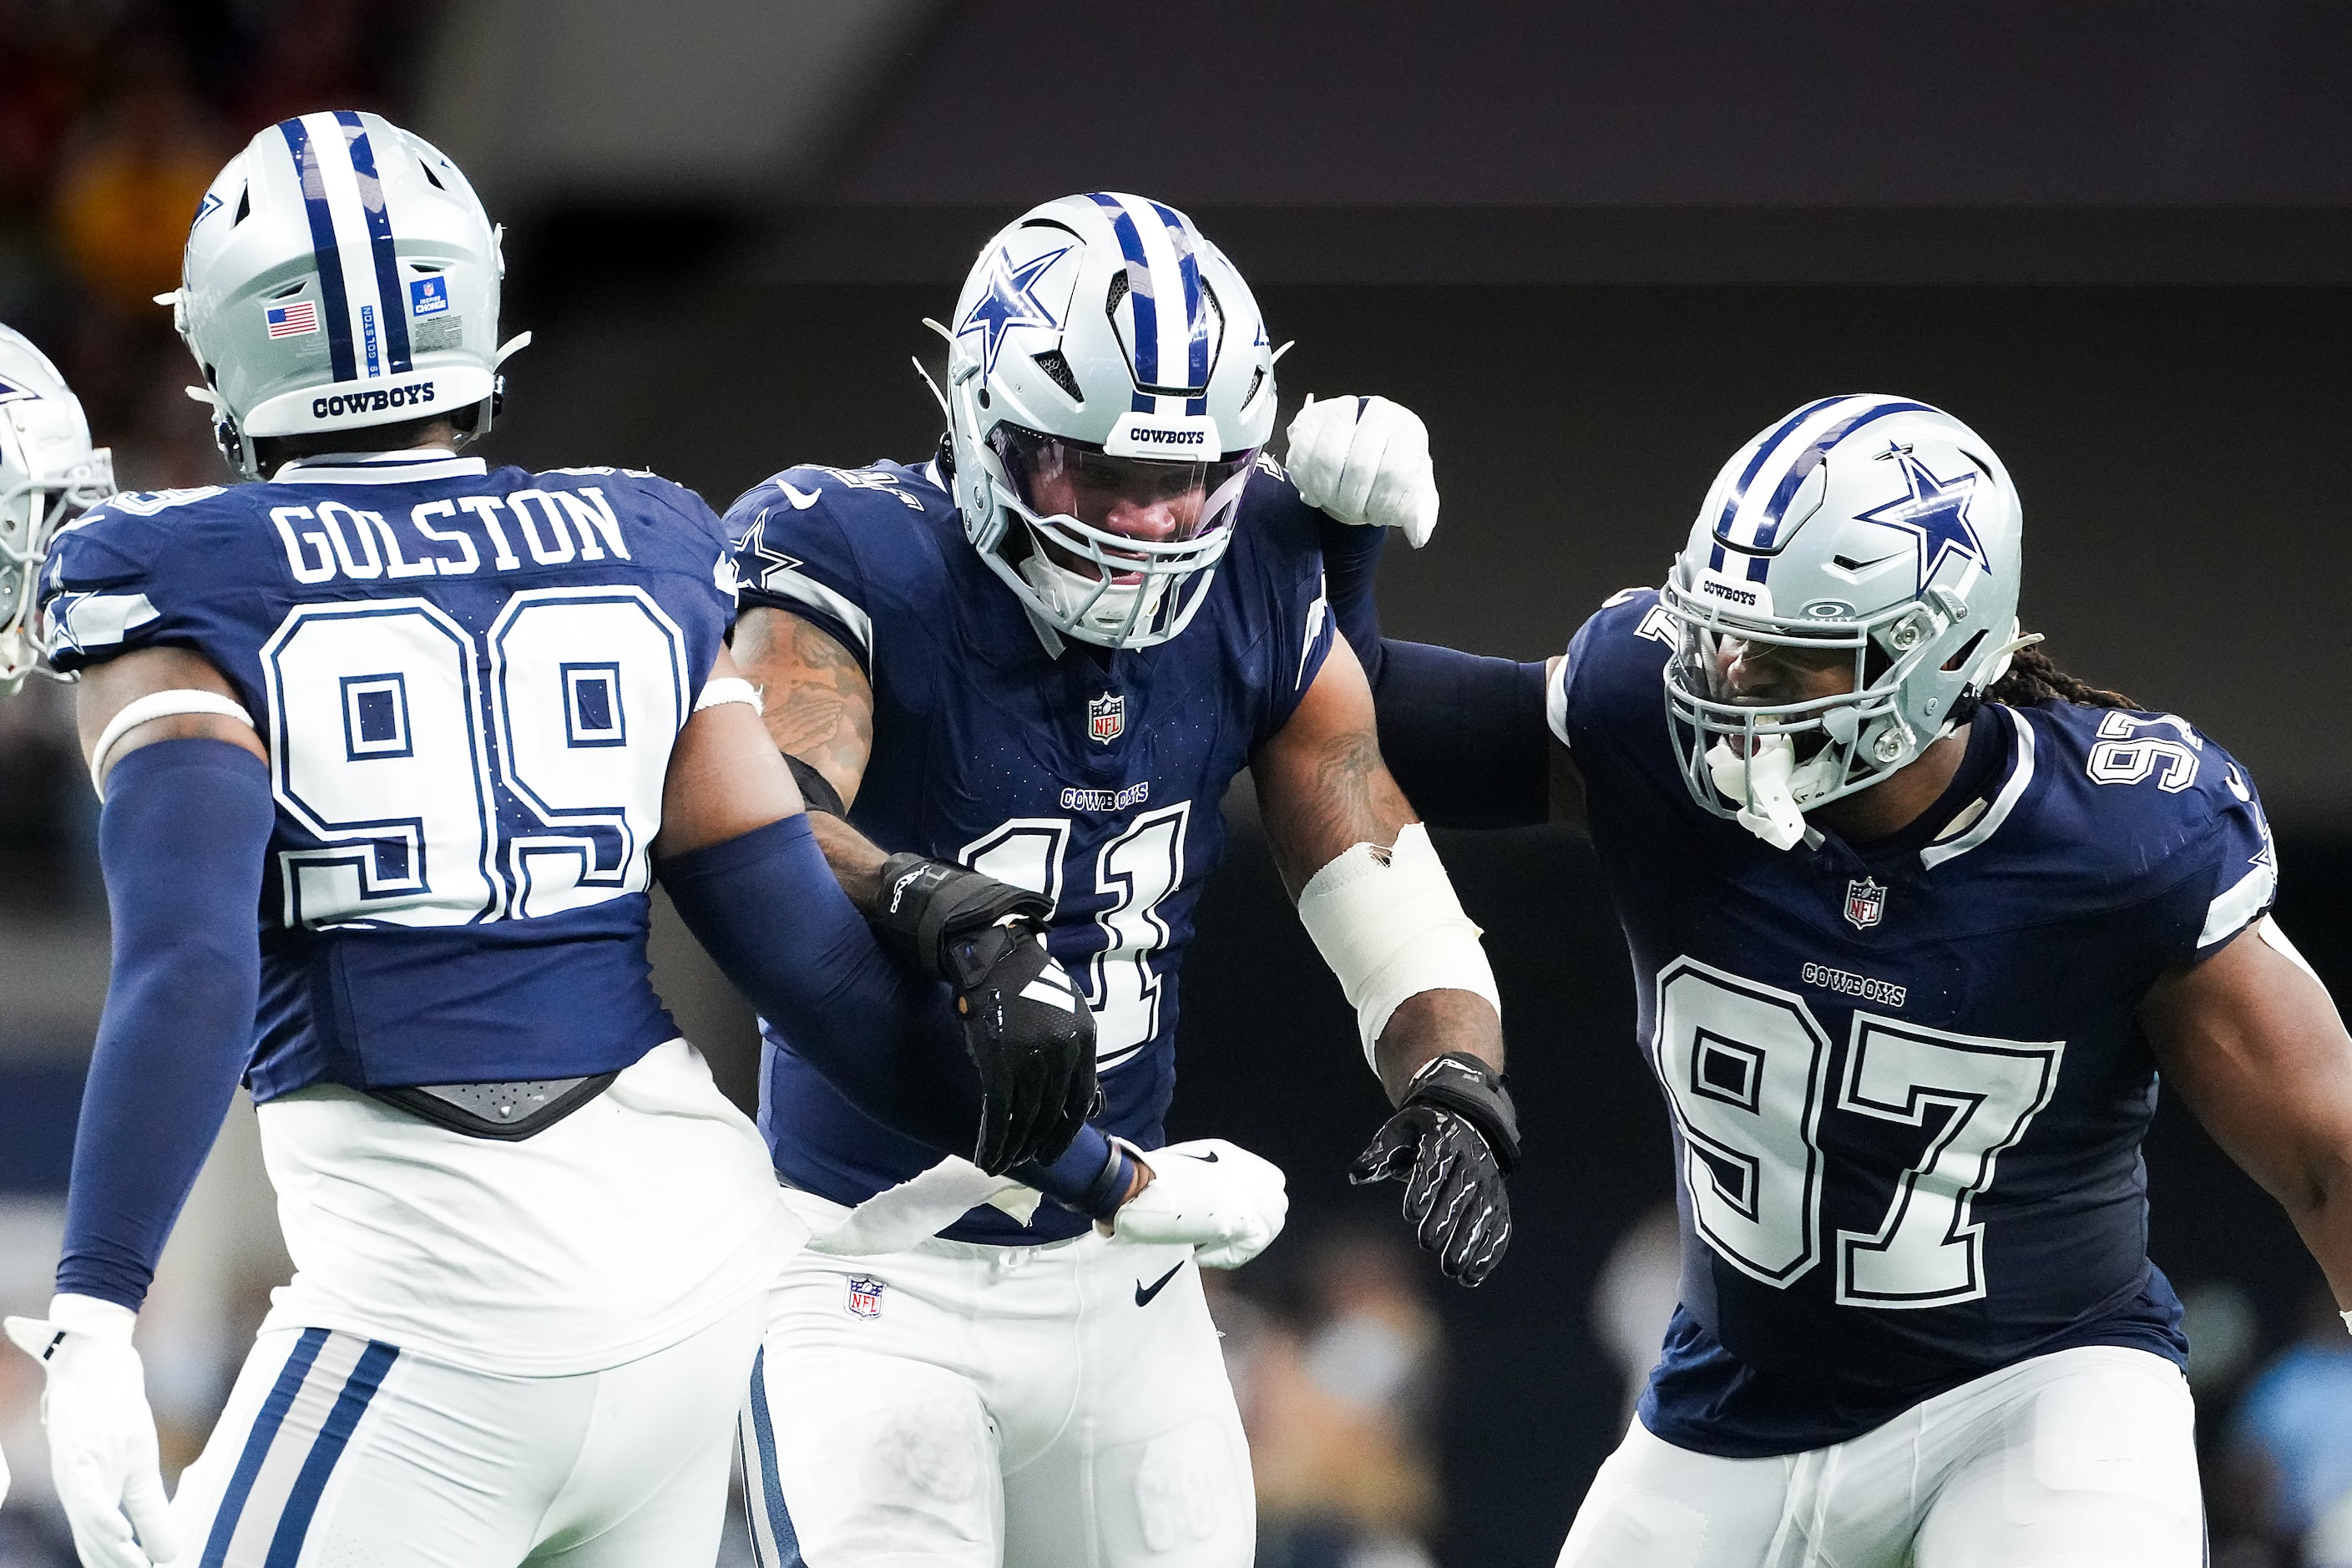
[[[1033,207],[981,252],[946,402],[981,559],[1056,632],[1143,649],[1192,621],[1232,543],[1275,428],[1275,357],[1192,219],[1098,190]]]

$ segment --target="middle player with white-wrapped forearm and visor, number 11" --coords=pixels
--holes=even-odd
[[[964,910],[1049,922],[1117,1143],[1065,1171],[1096,1178],[1075,1211],[955,1185],[769,1030],[762,1124],[830,1234],[786,1267],[753,1380],[755,1533],[774,1563],[1247,1563],[1249,1455],[1195,1265],[1272,1239],[1282,1173],[1160,1147],[1176,976],[1244,766],[1397,1105],[1357,1178],[1406,1178],[1463,1284],[1510,1237],[1494,976],[1381,764],[1315,541],[1317,503],[1432,520],[1428,435],[1392,404],[1310,409],[1352,461],[1294,487],[1263,454],[1275,348],[1249,287],[1134,195],[1023,214],[941,331],[936,454],[788,468],[729,512],[736,658],[877,924],[946,971],[931,933]]]

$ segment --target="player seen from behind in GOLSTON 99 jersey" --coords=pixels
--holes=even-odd
[[[47,1371],[94,1568],[708,1568],[804,1232],[647,983],[656,870],[906,1135],[1004,1168],[1091,1100],[1087,1020],[1021,994],[1058,973],[1035,929],[964,933],[957,1027],[842,898],[722,646],[710,508],[456,454],[520,343],[501,273],[416,136],[261,132],[169,301],[226,456],[268,480],[113,496],[40,567],[106,802],[113,976],[56,1298],[7,1333]],[[296,1274],[167,1509],[132,1326],[240,1077]]]

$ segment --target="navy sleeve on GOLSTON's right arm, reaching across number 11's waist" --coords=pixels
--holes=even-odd
[[[882,952],[807,816],[670,856],[659,870],[713,961],[851,1105],[943,1154],[971,1154],[981,1081],[948,987]],[[1110,1143],[1087,1126],[1061,1159],[1014,1178],[1096,1213],[1094,1190],[1112,1164]]]

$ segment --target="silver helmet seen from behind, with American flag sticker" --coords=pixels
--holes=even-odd
[[[480,407],[499,364],[501,230],[456,165],[381,115],[299,115],[212,181],[181,287],[158,296],[205,376],[228,461],[254,437],[383,425]]]

